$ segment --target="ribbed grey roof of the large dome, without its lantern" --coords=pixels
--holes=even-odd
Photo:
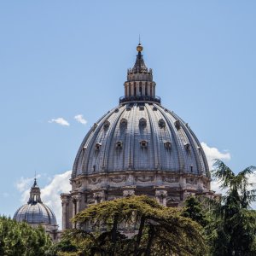
[[[195,134],[175,113],[154,102],[130,102],[105,114],[79,148],[72,177],[129,170],[208,175]]]

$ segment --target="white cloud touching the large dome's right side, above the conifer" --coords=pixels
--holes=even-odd
[[[207,143],[201,143],[202,148],[204,149],[205,154],[207,155],[207,160],[210,170],[213,169],[214,160],[230,160],[231,155],[229,152],[220,152],[218,148],[209,147]]]

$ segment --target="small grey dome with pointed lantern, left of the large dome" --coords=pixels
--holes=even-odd
[[[30,191],[29,201],[15,212],[14,219],[35,226],[41,224],[47,230],[57,230],[55,213],[41,201],[40,195],[41,192],[35,179]]]

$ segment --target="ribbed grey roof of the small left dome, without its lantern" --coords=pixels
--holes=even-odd
[[[28,224],[57,224],[55,213],[39,202],[20,207],[15,212],[14,219],[19,222],[26,221]]]

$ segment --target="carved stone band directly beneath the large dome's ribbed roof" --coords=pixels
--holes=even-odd
[[[168,188],[194,189],[195,191],[208,191],[209,177],[198,176],[190,173],[168,171],[127,171],[127,172],[102,172],[79,176],[72,179],[72,190],[83,192],[91,189],[114,189],[133,186],[154,188],[164,186]]]

